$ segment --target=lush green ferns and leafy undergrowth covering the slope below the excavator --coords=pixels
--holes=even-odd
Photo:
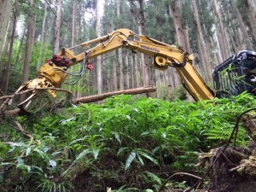
[[[159,191],[186,188],[175,172],[200,175],[199,152],[223,145],[253,96],[203,102],[166,102],[113,96],[15,119],[32,135],[1,122],[1,191]],[[24,133],[24,132],[23,132]],[[240,128],[237,141],[246,146]]]

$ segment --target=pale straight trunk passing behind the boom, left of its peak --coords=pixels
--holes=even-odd
[[[100,15],[100,0],[96,0],[96,34],[100,38],[102,36],[102,23]],[[102,93],[102,56],[97,56],[97,90],[98,94]]]

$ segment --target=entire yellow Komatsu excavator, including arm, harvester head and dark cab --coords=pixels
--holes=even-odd
[[[72,49],[83,47],[87,48],[83,53],[76,55]],[[76,75],[83,73],[84,68],[91,69],[90,60],[98,55],[106,54],[114,49],[130,49],[132,53],[141,52],[150,55],[153,61],[153,67],[158,70],[166,70],[168,67],[174,67],[180,76],[183,86],[194,97],[195,101],[209,100],[214,97],[223,97],[238,95],[247,90],[247,84],[244,83],[244,68],[251,71],[256,68],[256,53],[244,50],[237,55],[232,55],[227,61],[220,64],[213,72],[213,81],[215,91],[211,90],[206,82],[201,78],[192,64],[193,55],[177,48],[157,41],[147,36],[137,35],[128,29],[118,29],[110,32],[106,36],[96,38],[72,48],[63,48],[47,61],[43,67],[38,70],[37,79],[32,79],[20,86],[16,91],[19,93],[28,89],[35,89],[19,107],[26,109],[32,100],[38,96],[38,88],[49,88],[47,92],[55,97],[55,90],[50,88],[60,88],[61,84],[67,79],[68,68],[81,63],[81,70]],[[242,77],[239,79],[239,77]],[[252,83],[253,84],[253,83]]]

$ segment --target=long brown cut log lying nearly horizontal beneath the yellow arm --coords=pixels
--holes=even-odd
[[[103,93],[95,96],[84,96],[84,97],[79,97],[77,99],[73,99],[74,104],[78,103],[88,103],[88,102],[98,102],[102,101],[103,99],[106,99],[109,96],[116,96],[116,95],[137,95],[137,94],[142,94],[142,93],[149,93],[149,92],[154,92],[156,88],[154,86],[150,87],[141,87],[141,88],[136,88],[136,89],[131,89],[131,90],[118,90],[118,91],[113,91],[109,93]]]

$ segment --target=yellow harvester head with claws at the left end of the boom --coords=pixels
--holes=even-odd
[[[38,70],[38,77],[36,79],[27,81],[16,90],[15,95],[21,95],[21,100],[23,100],[18,104],[18,107],[22,111],[28,111],[28,109],[33,110],[31,108],[39,107],[39,103],[42,103],[41,108],[47,105],[51,101],[49,98],[56,96],[56,90],[61,87],[61,84],[67,78],[69,63],[70,61],[67,58],[60,55],[54,55],[52,59],[46,61],[44,66]],[[48,93],[46,94],[47,98],[45,98],[45,94],[41,94],[43,90],[46,90]],[[38,94],[39,92],[40,94]],[[25,100],[22,98],[25,98]]]

